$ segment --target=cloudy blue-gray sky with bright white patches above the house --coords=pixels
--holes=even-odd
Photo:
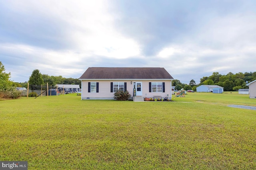
[[[0,0],[0,61],[79,78],[88,67],[164,67],[200,82],[254,72],[255,0]]]

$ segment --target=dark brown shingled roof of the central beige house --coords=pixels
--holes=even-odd
[[[79,79],[173,79],[160,67],[89,67]]]

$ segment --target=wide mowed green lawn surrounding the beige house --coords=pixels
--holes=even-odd
[[[256,169],[256,106],[237,93],[176,102],[0,101],[0,160],[28,169]]]

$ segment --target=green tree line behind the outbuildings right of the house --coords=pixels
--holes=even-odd
[[[256,72],[238,72],[233,74],[229,72],[226,75],[222,75],[219,72],[213,72],[211,76],[204,76],[200,78],[200,83],[196,84],[194,80],[190,80],[189,84],[183,84],[179,80],[172,80],[172,86],[175,89],[180,90],[194,90],[200,85],[218,85],[224,88],[224,91],[237,91],[241,88],[248,88],[246,84],[256,80]]]

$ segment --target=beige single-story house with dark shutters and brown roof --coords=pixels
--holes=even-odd
[[[136,98],[172,98],[173,77],[159,67],[89,67],[79,80],[82,81],[82,100],[114,100],[118,89],[127,90]]]

